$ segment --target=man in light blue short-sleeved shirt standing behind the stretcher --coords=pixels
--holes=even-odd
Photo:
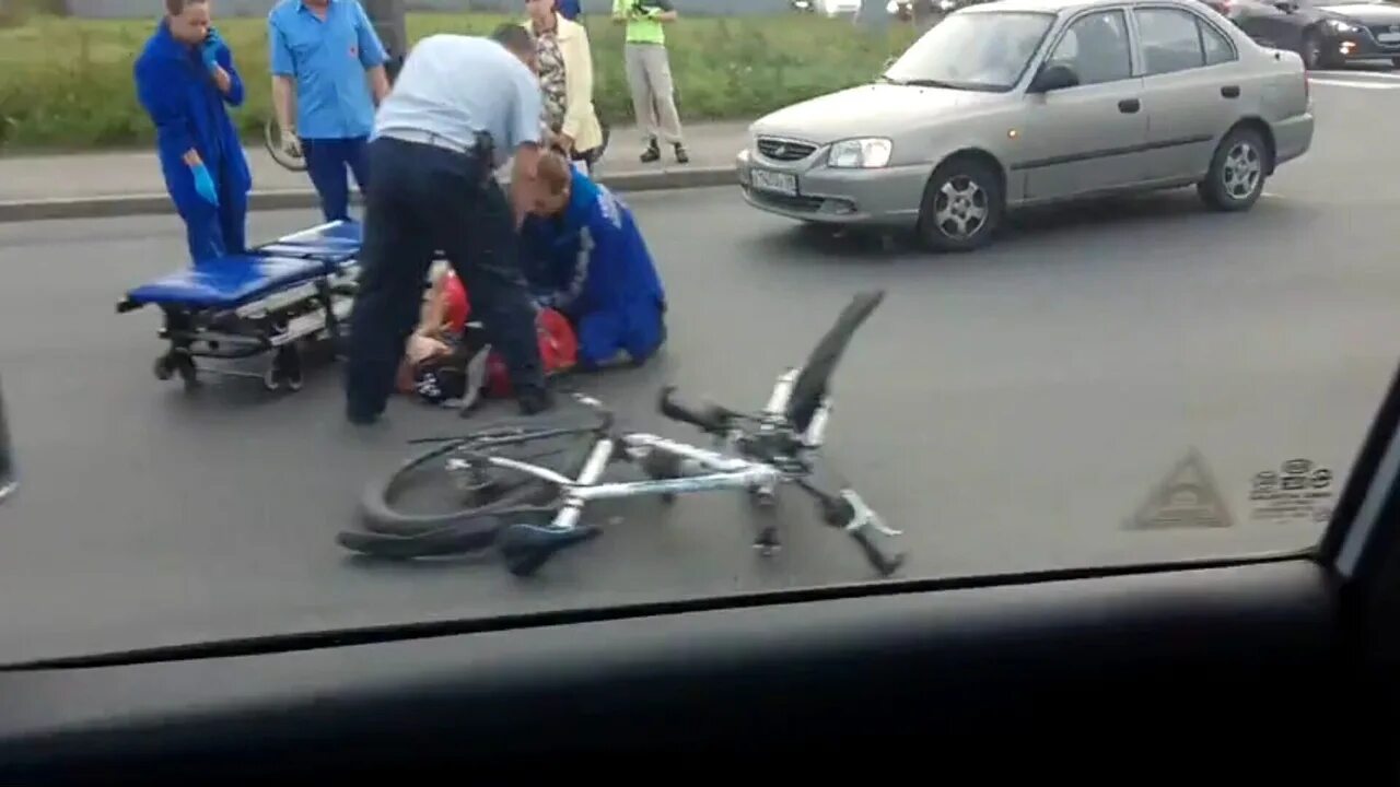
[[[326,221],[350,218],[349,175],[361,193],[370,186],[388,53],[358,0],[281,0],[267,14],[267,50],[283,150],[305,155]]]

